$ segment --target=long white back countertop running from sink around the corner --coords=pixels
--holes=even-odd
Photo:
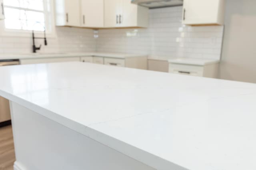
[[[141,54],[126,54],[126,53],[104,53],[104,52],[84,52],[84,53],[28,53],[28,54],[0,54],[1,59],[36,59],[36,58],[51,58],[51,57],[112,57],[112,58],[128,58],[128,57],[145,57]]]

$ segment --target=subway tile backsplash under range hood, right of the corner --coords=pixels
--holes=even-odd
[[[99,30],[97,51],[220,59],[223,26],[183,26],[182,6],[150,10],[148,29]]]

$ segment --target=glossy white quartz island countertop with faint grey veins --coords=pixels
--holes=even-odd
[[[157,170],[256,169],[256,84],[82,62],[0,80],[0,96]]]

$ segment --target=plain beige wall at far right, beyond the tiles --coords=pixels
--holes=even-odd
[[[256,0],[227,0],[220,78],[256,83]]]

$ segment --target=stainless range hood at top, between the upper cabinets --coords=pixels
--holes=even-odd
[[[132,3],[148,8],[160,8],[182,5],[183,0],[132,0]]]

